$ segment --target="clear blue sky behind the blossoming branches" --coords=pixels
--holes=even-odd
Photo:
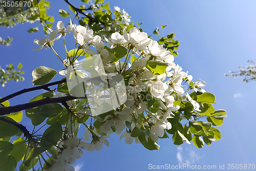
[[[59,9],[71,13],[64,2],[50,1],[48,14],[54,16],[56,26],[58,20],[69,22],[69,17],[62,18]],[[70,1],[81,5],[80,1]],[[255,59],[256,47],[256,2],[255,1],[109,1],[110,8],[114,6],[129,13],[134,22],[143,22],[141,28],[149,35],[161,25],[168,25],[163,35],[174,32],[180,46],[175,63],[193,75],[193,81],[204,80],[204,89],[216,95],[215,109],[224,109],[227,116],[223,126],[218,129],[222,133],[221,140],[211,145],[197,149],[194,144],[174,145],[172,136],[160,139],[159,151],[148,151],[141,144],[127,145],[119,141],[120,135],[111,135],[110,146],[103,146],[101,151],[84,151],[82,158],[74,166],[76,170],[148,170],[148,164],[153,165],[219,165],[225,164],[256,164],[254,108],[255,82],[242,83],[242,78],[226,78],[228,71],[238,70],[238,65],[248,65],[247,59]],[[73,17],[74,18],[74,17]],[[73,19],[72,18],[72,19]],[[62,69],[59,59],[50,50],[31,51],[38,47],[33,43],[36,38],[45,38],[42,27],[37,33],[27,33],[35,23],[25,23],[13,28],[0,28],[0,37],[13,37],[11,46],[0,45],[1,67],[12,63],[15,67],[23,64],[25,81],[8,82],[6,87],[0,87],[0,96],[6,96],[18,90],[32,87],[31,72],[38,66],[47,66],[56,70]],[[162,34],[162,30],[159,29]],[[153,36],[158,40],[160,36]],[[69,43],[69,42],[68,42]],[[74,48],[70,41],[69,50]],[[65,54],[63,43],[59,40],[54,44],[55,50]],[[57,81],[57,76],[53,81]],[[27,93],[10,100],[11,105],[28,102],[35,95],[44,91]],[[25,116],[25,114],[24,114]],[[28,119],[22,124],[32,128]],[[218,170],[218,169],[217,169]]]

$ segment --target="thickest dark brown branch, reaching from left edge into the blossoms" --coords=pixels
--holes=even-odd
[[[10,114],[12,112],[18,112],[18,111],[34,108],[34,107],[41,106],[41,105],[50,104],[50,103],[63,103],[63,102],[67,102],[67,101],[74,100],[74,99],[86,99],[86,98],[87,98],[86,94],[84,95],[84,97],[74,97],[71,95],[65,96],[65,97],[57,97],[57,98],[47,97],[47,98],[39,100],[39,101],[34,101],[34,102],[22,104],[22,105],[2,107],[2,108],[0,108],[0,116]]]

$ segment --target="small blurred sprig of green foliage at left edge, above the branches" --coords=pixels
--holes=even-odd
[[[11,80],[15,80],[16,82],[18,82],[18,80],[24,81],[24,77],[20,76],[21,74],[25,74],[23,70],[18,70],[18,71],[14,70],[13,64],[9,64],[6,66],[7,66],[6,70],[2,69],[0,66],[0,85],[1,86],[4,87],[5,84]],[[21,63],[18,64],[18,69],[20,68],[22,68]]]

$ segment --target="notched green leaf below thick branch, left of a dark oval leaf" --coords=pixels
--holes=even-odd
[[[45,119],[45,116],[39,115],[37,113],[38,107],[26,109],[26,116],[31,119],[34,126],[40,125]]]

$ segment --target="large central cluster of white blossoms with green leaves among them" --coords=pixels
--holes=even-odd
[[[121,11],[118,7],[115,10]],[[128,15],[123,11],[124,16]],[[71,21],[67,28],[59,21],[56,29],[50,30],[48,39],[35,39],[34,42],[41,45],[35,50],[40,50],[42,46],[52,48],[54,40],[60,36],[64,39],[66,33],[72,32],[78,48],[71,50],[72,53],[67,52],[67,58],[63,60],[58,56],[67,67],[67,70],[59,73],[67,77],[69,90],[68,94],[60,95],[82,97],[86,94],[87,100],[68,102],[72,117],[76,119],[67,120],[63,129],[74,138],[58,144],[63,150],[51,169],[72,170],[70,164],[82,156],[81,149],[99,151],[103,144],[110,145],[107,138],[111,134],[119,135],[123,131],[120,140],[124,138],[127,144],[134,141],[142,143],[152,150],[151,146],[156,146],[159,138],[166,134],[165,131],[173,128],[170,120],[176,117],[177,124],[184,118],[189,119],[191,114],[189,117],[181,115],[181,108],[188,106],[190,113],[194,110],[206,111],[203,103],[198,103],[185,93],[194,89],[196,95],[202,94],[205,90],[201,87],[206,83],[199,80],[191,82],[193,77],[174,63],[170,51],[148,38],[147,33],[137,28],[129,32],[123,29],[122,34],[116,32],[111,38],[102,39],[99,35],[93,35],[93,30],[74,25]],[[60,35],[56,38],[57,34]],[[84,59],[78,61],[78,57],[84,54]],[[189,83],[188,88],[183,87],[186,82]],[[58,95],[55,93],[55,96]],[[179,105],[184,99],[187,101]],[[90,126],[86,124],[89,117],[92,118]],[[75,137],[75,130],[80,126],[78,123],[88,129],[81,140]],[[179,130],[176,133],[181,137],[181,143],[190,143],[184,133]],[[147,147],[147,143],[152,145]]]

